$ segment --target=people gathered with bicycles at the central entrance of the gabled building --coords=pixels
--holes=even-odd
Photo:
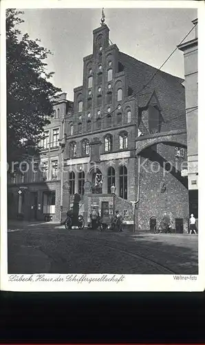
[[[91,219],[91,228],[93,230],[96,230],[99,226],[105,229],[110,223],[111,228],[116,228],[118,232],[122,232],[122,217],[120,216],[118,210],[116,210],[114,217],[112,217],[112,219],[109,219],[109,215],[107,215],[107,217],[101,218],[98,210],[96,209],[96,207],[94,207],[91,210],[89,217]]]

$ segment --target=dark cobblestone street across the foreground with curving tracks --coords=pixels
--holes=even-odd
[[[198,273],[195,235],[8,226],[8,273]]]

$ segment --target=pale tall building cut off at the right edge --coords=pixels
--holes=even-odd
[[[197,19],[193,21],[195,38],[178,48],[184,52],[184,75],[186,95],[186,126],[188,150],[189,213],[198,217],[198,34]]]

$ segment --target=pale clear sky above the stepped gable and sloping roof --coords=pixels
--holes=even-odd
[[[73,100],[73,89],[83,83],[83,57],[92,53],[93,30],[100,26],[100,8],[25,9],[19,29],[52,51],[47,70],[50,79]],[[160,68],[193,27],[196,9],[187,8],[105,8],[109,39],[119,50]],[[186,41],[193,39],[194,30]],[[162,68],[184,78],[184,57],[180,50]]]

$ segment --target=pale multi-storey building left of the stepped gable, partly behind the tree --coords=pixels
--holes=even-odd
[[[30,221],[61,220],[61,141],[72,102],[63,93],[54,103],[54,115],[39,146],[41,155],[20,162],[20,172],[8,178],[8,217]],[[19,167],[19,162],[17,168]],[[14,167],[15,170],[15,167]]]

